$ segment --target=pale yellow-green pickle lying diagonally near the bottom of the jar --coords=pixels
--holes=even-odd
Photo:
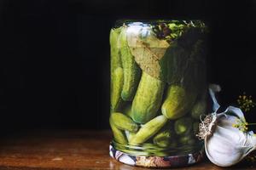
[[[167,119],[165,116],[156,116],[140,128],[136,135],[131,139],[131,144],[142,144],[150,137],[154,136],[166,122]]]

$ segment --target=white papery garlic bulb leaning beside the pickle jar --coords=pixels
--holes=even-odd
[[[239,108],[233,106],[223,113],[212,113],[208,133],[203,137],[207,157],[220,167],[235,165],[256,149],[256,136],[253,132],[245,133],[234,127],[237,120],[245,122],[245,117]]]

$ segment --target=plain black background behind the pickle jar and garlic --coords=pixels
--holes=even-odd
[[[2,0],[0,11],[2,130],[108,128],[108,36],[123,18],[205,20],[221,105],[256,100],[256,1]]]

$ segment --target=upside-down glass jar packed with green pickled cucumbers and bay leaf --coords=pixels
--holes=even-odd
[[[110,156],[141,167],[200,161],[207,113],[201,20],[119,20],[110,31]]]

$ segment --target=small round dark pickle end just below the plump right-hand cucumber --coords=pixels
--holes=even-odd
[[[192,118],[181,117],[174,122],[174,130],[179,135],[188,133],[192,129],[192,123]]]

